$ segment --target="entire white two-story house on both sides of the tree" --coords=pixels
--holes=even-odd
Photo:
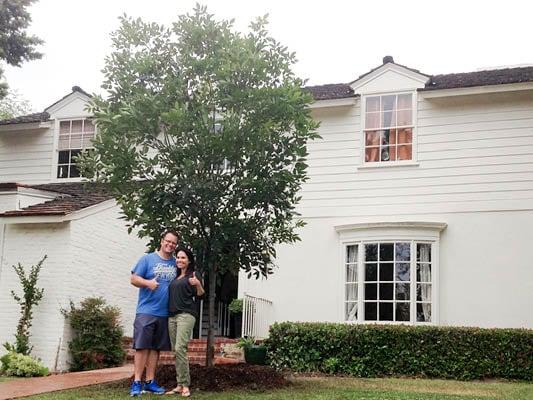
[[[307,225],[268,280],[240,276],[241,296],[268,300],[251,308],[256,326],[532,328],[533,67],[430,76],[386,57],[308,90],[322,139],[298,207]],[[19,317],[11,265],[47,254],[31,342],[56,370],[70,300],[104,296],[131,335],[130,268],[145,251],[109,194],[80,182],[72,156],[95,134],[89,97],[74,87],[43,113],[0,121],[0,343]]]

